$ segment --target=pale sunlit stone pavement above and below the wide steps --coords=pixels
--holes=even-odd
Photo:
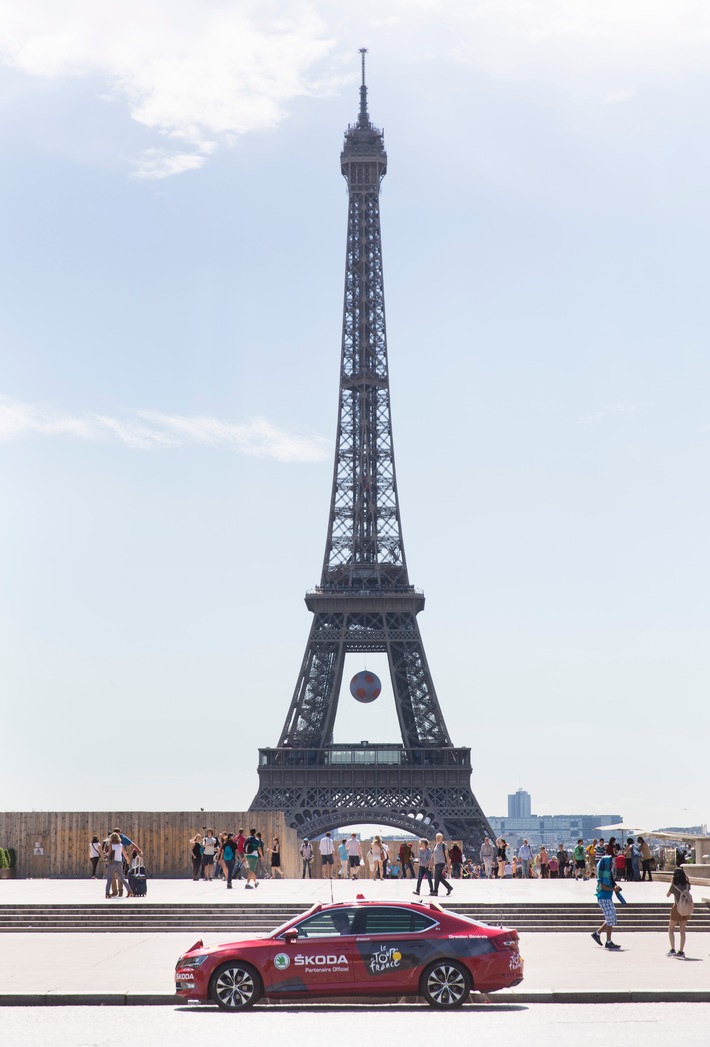
[[[411,882],[355,884],[334,882],[335,900],[361,892],[374,898],[412,898]],[[664,884],[629,884],[628,904],[662,901]],[[695,889],[696,905],[703,891]],[[227,892],[221,883],[151,881],[152,903],[212,903],[264,905],[268,901],[303,905],[329,901],[331,884],[323,881],[262,882],[259,890],[236,885]],[[461,881],[449,901],[535,904],[540,900],[589,903],[593,885],[533,881],[530,883]],[[0,905],[82,905],[103,899],[96,881],[0,881]],[[106,901],[107,906],[138,907],[142,899]],[[275,920],[274,920],[275,922]],[[589,934],[550,933],[520,935],[525,981],[515,989],[493,994],[492,1002],[710,1002],[710,934],[693,934],[689,927],[688,959],[668,958],[665,927],[658,933],[624,935],[624,910],[619,911],[615,935],[619,953],[600,949]],[[593,927],[590,931],[594,930]],[[178,955],[202,937],[199,926],[180,934],[75,933],[0,935],[0,1004],[60,1003],[175,1003],[173,970]],[[207,943],[239,937],[215,933]]]

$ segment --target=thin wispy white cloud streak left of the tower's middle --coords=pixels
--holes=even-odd
[[[320,438],[284,432],[264,418],[224,422],[209,416],[164,415],[155,410],[134,410],[126,418],[76,416],[0,396],[0,441],[32,435],[117,441],[134,450],[201,444],[279,462],[319,462],[329,446]]]

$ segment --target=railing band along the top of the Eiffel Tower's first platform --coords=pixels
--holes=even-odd
[[[457,766],[470,767],[470,749],[404,749],[402,745],[329,745],[326,749],[260,749],[260,767]]]

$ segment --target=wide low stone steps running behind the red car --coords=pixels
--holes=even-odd
[[[257,935],[274,930],[304,912],[303,905],[156,905],[147,898],[112,899],[96,905],[0,905],[0,934],[13,932],[87,933],[134,932]],[[591,903],[541,905],[461,904],[447,906],[484,923],[515,928],[524,933],[584,932],[600,922]],[[664,931],[666,904],[642,903],[619,907],[619,930]],[[692,931],[710,932],[710,905],[696,903]]]

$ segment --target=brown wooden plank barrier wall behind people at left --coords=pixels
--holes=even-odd
[[[146,855],[148,874],[181,878],[192,875],[190,840],[202,826],[215,834],[251,826],[267,846],[281,841],[285,876],[301,875],[301,841],[286,827],[283,811],[0,811],[0,847],[17,851],[17,875],[84,877],[90,875],[89,842],[104,840],[114,826],[134,840]],[[268,857],[268,855],[267,855]]]

